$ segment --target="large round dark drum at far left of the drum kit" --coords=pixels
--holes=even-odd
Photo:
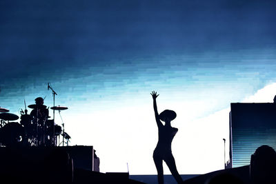
[[[0,128],[0,142],[2,145],[20,146],[25,140],[25,130],[17,122],[10,122]]]

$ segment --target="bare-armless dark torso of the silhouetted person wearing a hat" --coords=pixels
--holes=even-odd
[[[158,127],[158,143],[155,151],[172,152],[172,139],[177,134],[178,129],[171,126],[161,125]]]

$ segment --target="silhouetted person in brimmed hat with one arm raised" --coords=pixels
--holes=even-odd
[[[156,98],[159,96],[157,92],[152,91],[153,109],[155,110],[155,119],[158,127],[158,143],[153,152],[153,160],[158,173],[158,183],[164,183],[163,161],[166,162],[172,176],[175,177],[177,183],[182,183],[182,178],[177,172],[175,165],[175,158],[172,156],[172,139],[177,133],[178,129],[170,125],[170,121],[176,118],[177,114],[172,110],[164,110],[160,114],[157,111]],[[165,125],[161,121],[165,122]]]

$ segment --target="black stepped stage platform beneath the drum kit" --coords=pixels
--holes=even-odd
[[[141,183],[93,170],[91,146],[0,147],[0,183]]]

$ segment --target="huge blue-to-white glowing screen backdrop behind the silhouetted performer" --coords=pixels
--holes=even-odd
[[[177,112],[172,152],[179,172],[222,169],[230,103],[275,82],[274,7],[1,1],[0,106],[19,115],[24,99],[30,105],[46,96],[51,107],[50,82],[56,104],[69,108],[61,115],[70,145],[93,145],[101,172],[126,172],[128,163],[130,174],[156,174],[150,92],[157,90],[159,112]],[[56,120],[61,125],[58,114]]]

